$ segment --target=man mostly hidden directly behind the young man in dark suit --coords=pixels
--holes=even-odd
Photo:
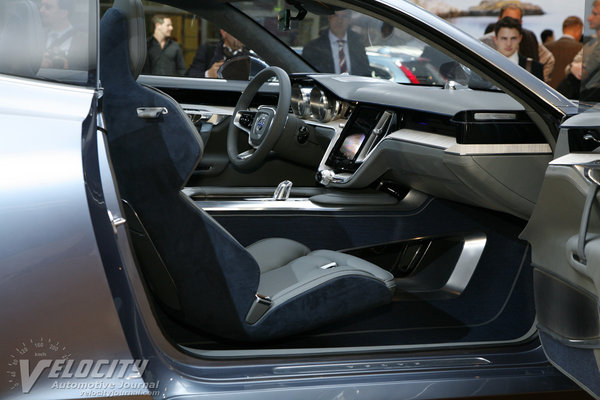
[[[512,17],[517,19],[519,21],[519,24],[521,24],[522,26],[523,9],[520,5],[516,3],[507,4],[500,9],[498,21],[505,17]],[[488,46],[495,49],[496,46],[494,43],[493,25],[494,24],[490,24],[491,31],[482,36],[480,40]],[[554,56],[552,55],[550,50],[546,48],[546,46],[544,46],[541,43],[538,43],[535,34],[532,31],[523,28],[521,29],[523,32],[523,40],[521,41],[521,44],[519,46],[521,55],[542,63],[542,65],[544,66],[544,81],[550,82],[550,79],[552,78],[552,71],[554,70]],[[486,32],[487,31],[488,30],[486,29]]]

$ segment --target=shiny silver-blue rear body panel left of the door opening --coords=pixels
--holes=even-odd
[[[0,93],[0,363],[131,359],[86,198],[82,122],[94,91],[0,76]],[[36,344],[48,350],[36,355]],[[3,399],[86,397],[42,378],[25,395],[5,369]]]

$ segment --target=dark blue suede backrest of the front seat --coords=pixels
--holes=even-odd
[[[135,81],[126,38],[126,17],[109,9],[100,24],[100,77],[121,197],[138,213],[173,277],[185,322],[244,338],[258,265],[181,193],[202,156],[201,139],[174,100]],[[142,119],[138,107],[166,107],[168,114]]]

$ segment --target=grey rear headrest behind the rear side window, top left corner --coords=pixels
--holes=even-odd
[[[34,77],[44,45],[39,8],[31,0],[0,1],[0,73]]]

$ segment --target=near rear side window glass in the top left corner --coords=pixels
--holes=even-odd
[[[95,86],[93,0],[0,2],[0,73]]]

